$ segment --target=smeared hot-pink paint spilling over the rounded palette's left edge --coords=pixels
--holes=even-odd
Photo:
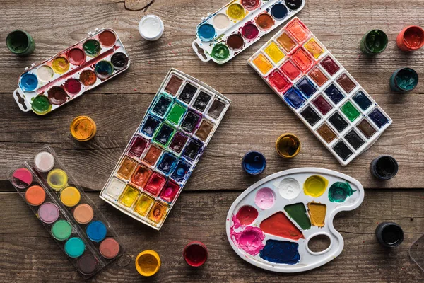
[[[237,233],[232,229],[230,231],[232,242],[237,248],[241,248],[249,255],[257,255],[264,248],[265,234],[258,227],[247,226],[245,230]]]

